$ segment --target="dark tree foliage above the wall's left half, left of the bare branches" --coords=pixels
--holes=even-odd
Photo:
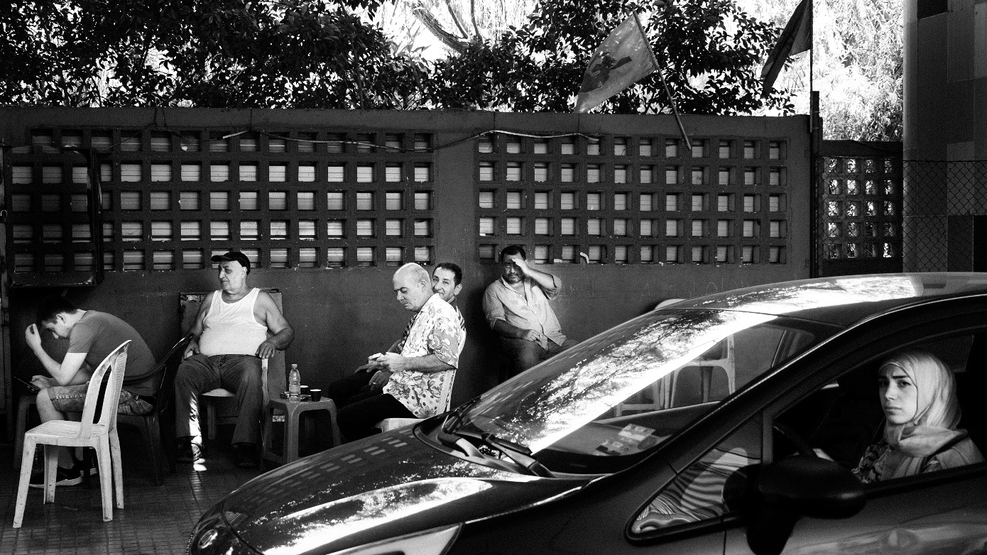
[[[0,92],[32,104],[415,107],[425,66],[353,12],[378,5],[29,0],[0,15],[0,31],[18,33],[0,51]]]

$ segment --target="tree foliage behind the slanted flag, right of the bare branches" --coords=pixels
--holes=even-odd
[[[670,2],[541,1],[528,22],[496,41],[474,41],[435,64],[435,104],[569,111],[596,46],[631,13],[643,21],[661,73],[681,111],[743,113],[791,109],[785,92],[761,99],[760,70],[778,29],[737,9],[733,0]],[[654,73],[599,108],[614,113],[667,111]]]

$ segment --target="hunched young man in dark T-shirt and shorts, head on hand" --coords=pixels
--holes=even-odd
[[[61,362],[55,361],[41,346],[42,331],[55,339],[68,340],[68,352]],[[66,420],[81,413],[93,371],[124,341],[127,346],[124,385],[116,405],[118,414],[147,414],[154,409],[157,386],[154,381],[154,355],[147,343],[130,324],[107,312],[83,311],[64,297],[49,296],[38,305],[38,324],[25,330],[28,346],[41,366],[51,376],[36,376],[38,415],[41,422]],[[82,468],[74,464],[71,451],[58,452],[56,485],[74,486],[82,482]],[[32,476],[32,487],[43,486],[43,473]]]

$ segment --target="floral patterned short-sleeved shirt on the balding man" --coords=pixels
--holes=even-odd
[[[401,356],[435,355],[453,369],[440,372],[396,372],[384,385],[384,392],[401,401],[418,418],[444,412],[452,392],[453,379],[456,377],[455,369],[459,366],[459,353],[465,341],[466,329],[460,326],[456,310],[438,295],[432,295],[413,316]]]

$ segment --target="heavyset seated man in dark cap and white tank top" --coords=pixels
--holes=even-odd
[[[264,392],[261,359],[284,350],[294,330],[270,295],[247,286],[250,260],[243,252],[212,257],[219,264],[219,291],[205,296],[190,332],[185,361],[175,377],[175,435],[182,462],[201,456],[199,395],[223,387],[237,396],[239,416],[233,431],[237,464],[257,466]]]

